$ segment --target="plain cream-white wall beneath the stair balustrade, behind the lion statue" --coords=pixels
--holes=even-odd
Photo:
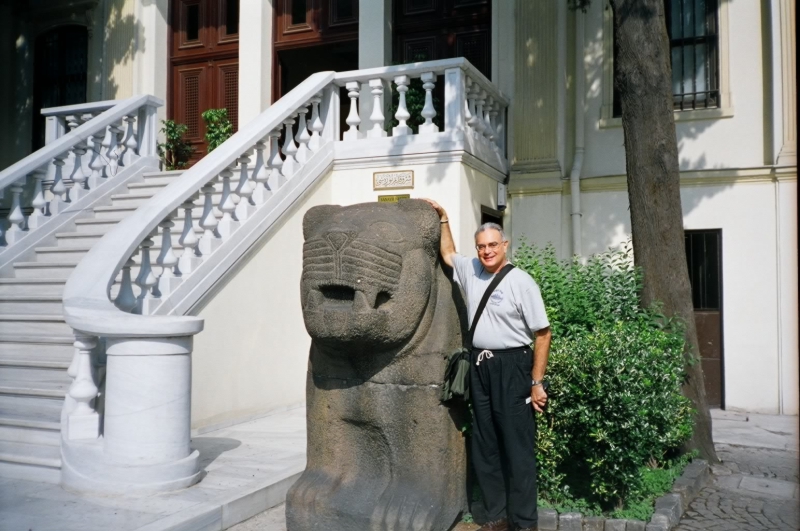
[[[373,172],[397,170],[414,171],[412,190],[373,190]],[[480,205],[496,205],[497,181],[459,162],[343,167],[321,179],[197,312],[205,329],[195,336],[192,355],[194,430],[208,431],[305,402],[310,339],[300,307],[303,215],[315,205],[350,205],[406,193],[440,201],[459,249],[471,254]]]

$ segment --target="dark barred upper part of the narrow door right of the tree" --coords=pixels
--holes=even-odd
[[[721,239],[719,230],[687,230],[685,233],[686,262],[695,310],[719,310],[721,307]]]

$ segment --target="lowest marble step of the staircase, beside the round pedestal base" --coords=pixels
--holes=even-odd
[[[0,441],[0,477],[58,483],[60,475],[58,446]]]

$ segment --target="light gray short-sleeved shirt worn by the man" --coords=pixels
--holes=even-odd
[[[477,258],[453,255],[456,282],[467,295],[469,323],[483,293],[494,278]],[[539,286],[520,269],[512,269],[489,297],[478,321],[472,344],[476,348],[502,349],[530,345],[533,333],[550,326]]]

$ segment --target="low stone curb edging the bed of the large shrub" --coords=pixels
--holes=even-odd
[[[655,501],[655,512],[649,522],[621,520],[581,513],[558,514],[554,509],[539,508],[539,529],[542,531],[669,531],[681,520],[689,503],[708,482],[710,468],[703,459],[695,459],[683,469],[672,484],[672,492]]]

